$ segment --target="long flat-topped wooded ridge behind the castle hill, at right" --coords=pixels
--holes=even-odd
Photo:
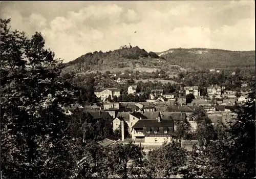
[[[156,53],[166,61],[183,68],[231,69],[255,68],[255,51],[228,51],[219,49],[169,49]]]

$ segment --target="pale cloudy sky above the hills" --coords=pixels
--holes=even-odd
[[[1,2],[0,17],[64,62],[94,51],[138,46],[255,50],[253,0],[241,1],[16,1]],[[135,33],[136,32],[136,33]]]

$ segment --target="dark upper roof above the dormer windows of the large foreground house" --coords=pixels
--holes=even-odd
[[[140,127],[174,127],[174,120],[161,120],[158,122],[156,119],[139,120],[132,128]]]

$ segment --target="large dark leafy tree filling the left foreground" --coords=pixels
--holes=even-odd
[[[61,62],[44,49],[41,34],[28,39],[9,23],[1,19],[2,174],[71,177],[75,163],[62,109],[72,102],[71,85],[60,78]]]

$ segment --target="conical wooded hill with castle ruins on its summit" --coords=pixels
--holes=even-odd
[[[74,71],[76,73],[91,72],[124,72],[130,70],[133,72],[155,72],[165,71],[177,74],[185,70],[178,65],[160,58],[154,52],[146,52],[139,47],[122,48],[109,52],[93,52],[87,53],[77,59],[65,63],[64,71]]]

